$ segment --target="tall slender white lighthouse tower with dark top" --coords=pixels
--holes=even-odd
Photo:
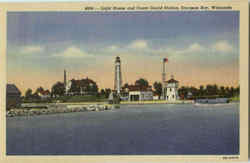
[[[122,87],[122,73],[121,73],[121,60],[120,57],[115,59],[115,90],[118,95],[121,93]]]

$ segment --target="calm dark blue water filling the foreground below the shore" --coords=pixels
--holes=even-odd
[[[239,104],[122,105],[7,118],[8,155],[239,153]]]

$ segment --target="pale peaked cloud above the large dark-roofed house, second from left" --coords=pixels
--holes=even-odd
[[[87,52],[75,47],[70,46],[67,49],[65,49],[61,53],[57,53],[52,55],[53,57],[62,57],[62,58],[90,58],[93,57],[93,55],[88,54]]]

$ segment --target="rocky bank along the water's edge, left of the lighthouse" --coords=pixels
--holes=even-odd
[[[72,113],[72,112],[86,112],[86,111],[105,111],[111,109],[118,109],[119,105],[47,105],[32,106],[10,109],[6,112],[7,117],[16,116],[37,116],[57,113]]]

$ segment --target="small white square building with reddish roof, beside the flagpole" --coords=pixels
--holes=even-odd
[[[171,76],[171,79],[165,82],[166,100],[175,101],[179,99],[178,87],[179,82]]]

